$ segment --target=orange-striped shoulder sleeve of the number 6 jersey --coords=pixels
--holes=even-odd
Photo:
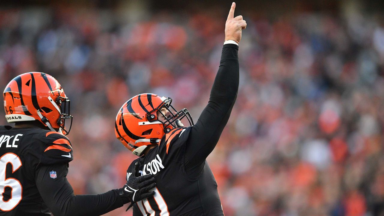
[[[73,160],[70,140],[62,133],[45,131],[40,136],[43,142],[42,164],[69,163]]]

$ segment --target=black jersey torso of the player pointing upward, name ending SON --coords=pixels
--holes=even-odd
[[[155,195],[134,204],[133,216],[217,216],[224,215],[217,183],[207,162],[197,178],[184,169],[185,144],[191,127],[175,128],[167,133],[159,146],[134,160],[127,169],[127,179],[139,173],[156,179]]]

